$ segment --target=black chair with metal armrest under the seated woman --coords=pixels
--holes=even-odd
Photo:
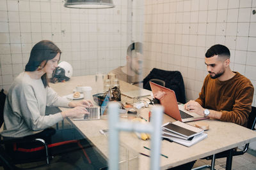
[[[3,110],[4,110],[4,103],[6,99],[6,94],[4,94],[4,90],[2,89],[0,92],[0,127],[3,125]],[[10,145],[12,143],[40,143],[40,145],[44,146],[45,148],[45,160],[46,164],[49,164],[49,152],[48,152],[48,146],[45,143],[44,139],[40,138],[3,138],[3,136],[0,136],[0,162],[4,166],[5,169],[15,169],[15,164],[20,163],[27,163],[27,162],[35,162],[38,160],[42,160],[42,158],[35,158],[35,160],[14,160],[8,152],[5,150],[4,146]],[[3,146],[2,146],[3,145]],[[10,161],[11,160],[11,161]],[[13,163],[14,162],[14,163]]]

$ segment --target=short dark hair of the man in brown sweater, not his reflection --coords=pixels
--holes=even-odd
[[[207,50],[205,53],[205,57],[213,57],[214,55],[218,55],[220,57],[227,57],[230,58],[230,51],[228,50],[227,46],[225,45],[213,45],[211,48]]]

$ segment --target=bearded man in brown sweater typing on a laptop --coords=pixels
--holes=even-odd
[[[230,69],[230,51],[214,45],[205,53],[209,74],[198,99],[185,104],[185,109],[198,115],[225,122],[246,125],[252,110],[254,88],[251,81]]]

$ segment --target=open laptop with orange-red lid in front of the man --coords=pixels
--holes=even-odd
[[[160,99],[160,103],[164,106],[164,113],[166,113],[166,115],[169,115],[170,117],[175,118],[175,120],[179,120],[180,122],[191,122],[207,119],[207,117],[202,117],[196,113],[185,110],[184,104],[178,105],[175,92],[173,90],[161,85],[157,85],[151,81],[149,83],[154,96],[158,91],[166,93],[164,94],[164,97]]]

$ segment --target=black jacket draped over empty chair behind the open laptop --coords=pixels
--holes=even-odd
[[[172,89],[175,92],[179,103],[186,103],[184,81],[179,71],[166,71],[154,68],[143,79],[143,89],[151,90],[149,81],[155,81],[159,85],[164,84],[164,87]]]

